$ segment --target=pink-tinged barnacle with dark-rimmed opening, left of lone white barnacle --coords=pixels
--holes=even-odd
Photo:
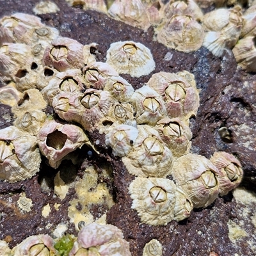
[[[60,72],[69,68],[80,69],[84,67],[83,51],[83,45],[76,40],[59,36],[45,49],[43,63]]]

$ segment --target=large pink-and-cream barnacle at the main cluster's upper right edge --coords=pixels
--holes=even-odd
[[[154,74],[147,84],[163,97],[170,118],[188,120],[196,115],[199,90],[196,89],[195,83],[188,83],[187,79],[174,73],[159,72]]]

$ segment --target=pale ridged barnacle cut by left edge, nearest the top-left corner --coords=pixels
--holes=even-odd
[[[0,20],[0,46],[4,43],[21,43],[26,31],[44,26],[41,19],[25,13],[15,13]]]

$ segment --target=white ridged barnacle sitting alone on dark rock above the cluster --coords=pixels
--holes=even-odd
[[[150,50],[145,45],[133,41],[111,44],[107,51],[106,63],[114,67],[119,74],[129,74],[132,77],[146,76],[156,67]]]

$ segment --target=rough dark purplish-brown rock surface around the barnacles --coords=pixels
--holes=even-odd
[[[15,12],[33,14],[32,9],[37,2],[0,1],[0,17]],[[96,42],[98,61],[106,61],[106,51],[112,42],[133,40],[151,50],[156,61],[154,72],[188,70],[195,74],[196,84],[201,92],[198,114],[191,119],[192,151],[206,157],[211,157],[216,150],[234,154],[241,161],[244,169],[244,180],[241,185],[253,198],[245,204],[241,200],[237,201],[236,196],[233,197],[232,193],[229,193],[223,198],[218,198],[207,209],[196,209],[188,220],[180,223],[172,221],[164,227],[141,224],[136,211],[131,209],[132,200],[128,194],[128,186],[134,177],[127,173],[122,161],[118,157],[113,157],[111,150],[106,148],[104,136],[90,134],[92,142],[96,143],[99,140],[100,155],[95,154],[90,157],[86,148],[83,155],[84,161],[87,164],[108,161],[112,165],[114,182],[113,188],[109,190],[113,189],[116,205],[108,211],[107,222],[122,229],[125,239],[130,242],[132,255],[142,255],[143,246],[151,239],[157,239],[163,244],[164,256],[235,255],[235,253],[255,255],[255,247],[252,244],[256,243],[253,234],[256,213],[255,206],[252,207],[252,205],[255,205],[256,196],[252,192],[256,192],[256,75],[237,70],[231,51],[225,52],[221,58],[212,56],[211,52],[203,47],[187,54],[172,51],[154,41],[152,28],[144,32],[112,20],[102,13],[85,12],[79,8],[70,7],[65,0],[55,0],[54,3],[58,5],[60,12],[39,15],[42,22],[59,29],[61,36],[74,38],[82,44]],[[150,75],[139,78],[131,78],[127,75],[122,77],[136,89],[146,83]],[[0,128],[11,125],[10,108],[1,104],[0,113]],[[9,117],[4,117],[6,115]],[[227,127],[231,136],[229,140],[221,139],[218,133],[220,127]],[[0,239],[10,242],[10,247],[34,234],[52,235],[59,223],[66,223],[67,232],[76,234],[74,225],[68,222],[67,214],[68,201],[76,196],[75,189],[69,189],[68,196],[64,200],[54,196],[53,178],[58,170],[52,170],[44,161],[45,159],[43,159],[40,173],[31,180],[16,184],[0,182]],[[82,171],[83,168],[77,164],[76,179],[79,179],[79,175],[83,175]],[[44,177],[47,177],[48,190],[42,189],[38,183]],[[22,192],[25,192],[26,197],[33,201],[30,212],[20,212],[17,207],[16,202]],[[55,203],[60,204],[58,210],[54,207]],[[52,211],[45,218],[42,216],[42,207],[47,204],[50,204]],[[77,209],[79,210],[79,205]],[[101,214],[106,212],[97,207],[92,211],[100,211]],[[94,212],[93,216],[99,216],[99,214]],[[249,220],[249,216],[254,216],[254,219]],[[246,225],[248,221],[250,225]],[[241,235],[232,235],[234,232],[236,234],[236,228],[240,230]]]

